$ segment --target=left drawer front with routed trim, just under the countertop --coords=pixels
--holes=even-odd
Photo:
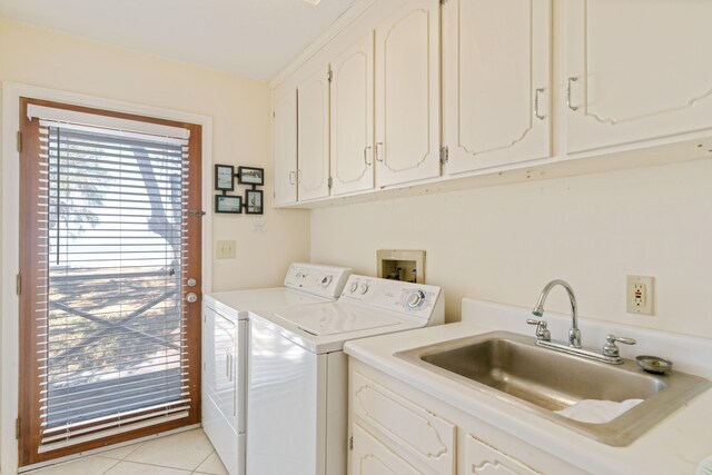
[[[355,372],[353,413],[438,474],[455,471],[455,426]]]

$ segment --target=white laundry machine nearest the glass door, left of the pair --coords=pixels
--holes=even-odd
[[[248,310],[334,301],[350,269],[293,264],[285,286],[204,296],[202,427],[230,475],[245,474]]]

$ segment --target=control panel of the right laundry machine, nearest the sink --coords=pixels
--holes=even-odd
[[[444,320],[443,290],[437,286],[352,275],[340,299],[416,316],[428,325]]]

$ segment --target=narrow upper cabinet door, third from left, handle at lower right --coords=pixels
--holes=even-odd
[[[374,187],[374,33],[332,62],[332,195]]]

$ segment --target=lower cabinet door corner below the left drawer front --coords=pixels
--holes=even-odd
[[[353,449],[349,453],[350,475],[419,474],[407,462],[368,434],[358,424],[353,426]]]

